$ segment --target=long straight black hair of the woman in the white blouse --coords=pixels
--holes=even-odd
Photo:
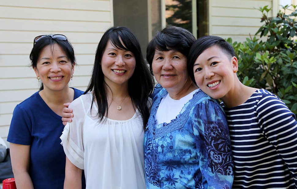
[[[108,103],[106,95],[106,83],[101,67],[101,60],[108,41],[118,48],[131,51],[134,54],[136,66],[132,77],[128,81],[128,91],[143,119],[143,127],[149,119],[149,108],[147,105],[148,96],[152,93],[154,80],[149,72],[149,67],[145,63],[139,41],[135,34],[126,27],[111,27],[102,36],[95,55],[95,62],[91,81],[85,93],[93,91],[92,103],[96,99],[98,104],[98,116],[100,120],[108,113]],[[108,87],[108,85],[107,85]]]

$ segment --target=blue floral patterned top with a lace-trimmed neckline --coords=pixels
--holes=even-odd
[[[147,188],[231,189],[230,137],[220,105],[199,90],[175,119],[157,128],[156,112],[166,94],[157,85],[152,96],[144,141]]]

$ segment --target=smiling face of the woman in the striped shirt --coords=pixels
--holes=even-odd
[[[234,90],[238,62],[220,47],[211,46],[198,56],[193,70],[197,86],[212,98],[224,101]]]

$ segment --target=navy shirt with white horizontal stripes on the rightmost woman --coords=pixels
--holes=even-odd
[[[234,161],[233,188],[297,188],[297,122],[265,89],[226,108]]]

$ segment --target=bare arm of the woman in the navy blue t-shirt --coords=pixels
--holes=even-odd
[[[34,189],[29,175],[30,145],[10,143],[10,157],[18,189]]]

